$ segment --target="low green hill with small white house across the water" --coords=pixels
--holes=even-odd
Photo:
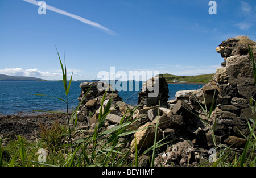
[[[162,76],[166,78],[167,82],[169,83],[178,83],[178,82],[188,82],[188,83],[208,83],[215,73],[212,74],[202,74],[202,75],[196,75],[196,76],[175,76],[172,74],[159,74],[159,76]],[[177,82],[174,82],[174,80],[177,80]]]

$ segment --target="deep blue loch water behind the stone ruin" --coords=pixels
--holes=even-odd
[[[68,94],[69,109],[75,109],[81,93],[79,85],[82,81],[72,81]],[[142,82],[137,82],[139,88]],[[127,104],[137,105],[138,88],[133,91],[119,91],[118,94]],[[129,85],[127,85],[129,86]],[[203,85],[191,84],[168,84],[170,99],[175,98],[179,90],[200,89]],[[130,90],[130,89],[129,89]],[[30,94],[31,93],[31,94]],[[61,81],[0,81],[0,114],[29,113],[32,110],[64,110],[65,103],[53,97],[36,96],[32,94],[46,94],[63,98],[65,90]]]

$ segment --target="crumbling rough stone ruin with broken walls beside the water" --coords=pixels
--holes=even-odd
[[[246,36],[222,42],[216,51],[224,58],[224,62],[221,63],[221,68],[217,68],[212,80],[201,89],[177,92],[175,100],[168,101],[169,91],[165,78],[153,77],[145,82],[138,93],[138,109],[132,117],[138,119],[134,129],[142,130],[138,130],[131,138],[131,153],[135,152],[135,138],[140,153],[154,143],[155,128],[148,126],[156,122],[159,123],[157,139],[166,138],[172,142],[160,148],[163,154],[155,158],[155,165],[198,165],[208,160],[208,150],[214,148],[211,127],[214,129],[218,145],[225,144],[238,150],[243,148],[246,143],[243,135],[248,136],[250,133],[248,119],[256,117],[250,104],[251,98],[256,99],[256,86],[248,55],[248,43],[255,53],[256,43]],[[159,85],[158,95],[148,97],[155,84]],[[97,122],[104,94],[104,91],[97,89],[97,85],[97,82],[85,82],[80,85],[79,100],[91,86],[80,110],[77,111],[79,121],[86,124],[81,125],[82,129],[87,130],[79,135],[80,137],[93,133]],[[104,106],[111,94],[111,91],[106,94]],[[209,111],[212,102],[213,112],[208,117],[201,106],[206,106]],[[134,106],[122,102],[118,92],[114,91],[111,107],[113,111],[106,117],[106,129],[117,126],[126,111]],[[196,115],[203,118],[207,124]],[[148,165],[148,156],[141,155],[139,158],[139,165]]]

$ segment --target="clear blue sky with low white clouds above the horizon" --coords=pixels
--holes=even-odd
[[[212,15],[208,0],[45,0],[69,16],[39,14],[33,1],[0,1],[0,74],[61,79],[55,45],[73,80],[94,80],[110,67],[127,75],[215,73],[222,41],[246,32],[256,40],[254,0],[216,0]]]

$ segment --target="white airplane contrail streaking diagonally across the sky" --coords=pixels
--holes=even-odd
[[[36,1],[36,0],[23,0],[23,1],[26,1],[28,3],[31,3],[33,5],[36,5],[36,6],[40,6],[39,5],[39,1]],[[86,23],[86,24],[89,24],[90,26],[94,26],[94,27],[97,27],[97,28],[100,28],[101,30],[107,32],[108,34],[111,34],[111,35],[114,35],[115,32],[113,32],[112,30],[110,30],[109,28],[106,28],[104,26],[101,26],[100,24],[96,23],[96,22],[92,22],[90,20],[87,20],[85,18],[82,18],[81,16],[78,16],[78,15],[75,15],[75,14],[71,14],[71,13],[68,13],[67,11],[64,11],[64,10],[61,10],[61,9],[58,9],[56,7],[53,7],[53,6],[49,6],[46,4],[46,9],[48,10],[51,10],[55,13],[59,13],[59,14],[63,14],[65,16],[69,16],[73,19],[76,19],[76,20],[79,20],[80,22],[82,23]]]

